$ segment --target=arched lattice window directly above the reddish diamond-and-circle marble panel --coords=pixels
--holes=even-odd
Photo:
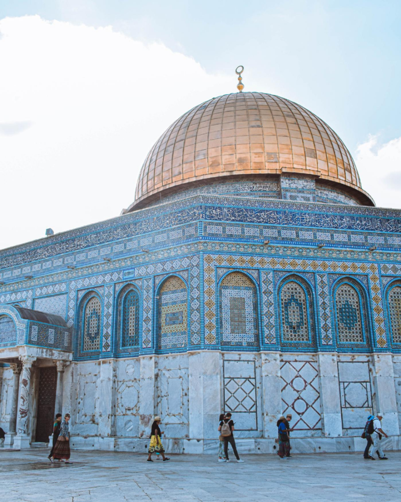
[[[312,295],[302,279],[288,279],[280,289],[280,321],[284,343],[313,342]]]

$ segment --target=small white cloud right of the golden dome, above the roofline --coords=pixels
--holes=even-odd
[[[401,138],[378,145],[370,136],[357,148],[355,163],[366,190],[379,207],[401,208]]]

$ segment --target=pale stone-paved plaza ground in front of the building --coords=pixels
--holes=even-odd
[[[51,464],[49,450],[0,450],[2,502],[332,502],[401,500],[401,453],[367,461],[360,453],[244,455],[218,463],[213,455],[146,455],[73,451],[72,465]],[[153,455],[155,457],[155,455]]]

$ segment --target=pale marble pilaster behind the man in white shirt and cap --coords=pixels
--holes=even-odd
[[[372,354],[373,387],[377,412],[383,413],[382,428],[388,435],[399,434],[394,371],[391,354]],[[394,447],[393,447],[394,448]],[[396,446],[394,449],[398,449]]]

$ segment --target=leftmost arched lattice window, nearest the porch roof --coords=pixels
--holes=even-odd
[[[96,295],[89,293],[84,299],[81,319],[82,351],[100,350],[102,305]]]

